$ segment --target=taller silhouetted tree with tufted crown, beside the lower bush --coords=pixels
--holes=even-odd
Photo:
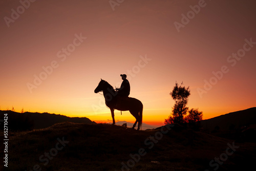
[[[186,107],[188,96],[190,95],[189,87],[185,88],[182,87],[176,82],[174,89],[170,92],[170,96],[175,100],[175,104],[173,106],[173,110],[171,115],[168,119],[165,119],[165,124],[172,124],[172,123],[184,123],[183,117],[186,115],[188,108]]]

